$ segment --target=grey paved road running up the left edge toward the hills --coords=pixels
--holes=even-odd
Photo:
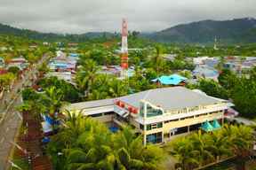
[[[36,66],[41,65],[44,60],[48,58],[47,55],[38,62]],[[36,66],[28,71],[23,80],[19,81],[12,92],[15,97],[8,101],[8,107],[5,110],[4,120],[0,122],[0,170],[8,169],[10,166],[8,163],[9,154],[12,151],[11,141],[14,140],[17,130],[20,127],[21,117],[20,113],[15,111],[15,107],[21,104],[21,95],[18,93],[18,89],[22,89],[22,84],[31,85],[30,79],[36,76]],[[6,96],[8,98],[8,95]]]

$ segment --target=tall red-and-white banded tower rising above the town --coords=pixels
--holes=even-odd
[[[127,69],[128,69],[128,27],[127,27],[127,20],[123,19],[122,22],[122,48],[121,48],[121,68],[122,68],[122,77],[127,76]]]

